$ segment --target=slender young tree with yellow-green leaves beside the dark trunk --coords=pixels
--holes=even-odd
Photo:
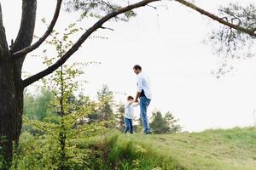
[[[58,40],[60,34],[57,31],[54,32],[54,36],[51,35],[52,38],[48,41],[50,45],[55,46],[55,50],[58,54],[56,59],[60,59],[62,54],[65,54],[68,48],[73,45],[73,42],[69,37],[78,32],[79,29],[76,28],[76,24],[70,24],[65,31],[67,32],[61,36],[61,41]],[[45,55],[44,64],[48,66],[52,65],[53,59],[55,58],[49,58]],[[79,81],[77,80],[77,77],[83,74],[83,71],[76,68],[77,65],[81,64],[61,65],[59,70],[54,71],[48,78],[43,79],[44,86],[49,88],[55,95],[55,102],[53,105],[55,106],[55,112],[61,116],[60,124],[57,125],[58,127],[55,131],[58,133],[57,141],[59,143],[59,149],[56,150],[55,162],[56,167],[61,170],[70,169],[70,161],[73,159],[76,160],[77,158],[75,155],[69,156],[71,149],[69,148],[67,140],[73,139],[73,130],[79,129],[78,126],[75,127],[75,123],[79,118],[85,116],[84,110],[83,112],[80,111],[83,107],[76,106],[78,102],[74,96],[74,93],[79,89]],[[79,99],[79,102],[81,103],[82,100]],[[83,105],[83,102],[81,104]]]

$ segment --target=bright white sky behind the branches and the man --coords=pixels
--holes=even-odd
[[[19,29],[20,2],[1,0],[8,41],[15,38]],[[229,2],[249,1],[195,1],[211,11]],[[108,40],[90,39],[69,59],[69,62],[102,62],[102,65],[84,68],[83,78],[89,81],[84,94],[94,99],[102,84],[108,84],[114,92],[135,95],[136,75],[132,66],[140,64],[153,85],[154,97],[149,112],[154,109],[171,111],[188,131],[252,126],[253,109],[256,108],[256,59],[242,60],[235,71],[217,79],[211,72],[218,66],[218,56],[212,54],[209,45],[202,43],[211,27],[218,26],[216,22],[176,2],[152,5],[158,9],[140,8],[138,16],[127,23],[108,22],[105,26],[114,31],[96,33]],[[38,1],[36,35],[45,31],[40,19],[45,17],[49,21],[54,9],[55,1]],[[57,28],[66,27],[77,19],[76,14],[62,10]],[[91,21],[86,22],[84,28],[90,26],[88,23]],[[40,54],[41,50],[34,54]],[[42,69],[40,60],[26,59],[24,71],[36,73]],[[125,101],[125,95],[116,94],[116,98]]]

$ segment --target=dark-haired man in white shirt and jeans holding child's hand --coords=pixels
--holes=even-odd
[[[143,121],[144,133],[149,134],[151,131],[148,124],[147,109],[151,101],[150,82],[148,77],[143,73],[140,65],[134,65],[133,71],[137,74],[137,95],[135,102],[138,102],[138,99],[140,99],[140,115]]]

